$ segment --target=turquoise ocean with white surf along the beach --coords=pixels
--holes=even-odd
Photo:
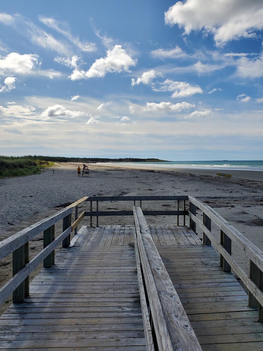
[[[113,165],[144,165],[158,167],[194,168],[200,170],[263,171],[263,161],[169,161],[169,162],[108,162]]]

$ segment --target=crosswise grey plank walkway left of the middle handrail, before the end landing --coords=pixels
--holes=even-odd
[[[146,350],[134,248],[69,247],[0,318],[1,350]]]

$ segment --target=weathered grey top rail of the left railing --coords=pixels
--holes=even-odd
[[[0,260],[72,213],[72,207],[53,214],[0,242]]]

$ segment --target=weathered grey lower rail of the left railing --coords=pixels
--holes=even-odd
[[[29,263],[27,263],[18,273],[15,274],[0,289],[0,304],[25,280],[26,277],[65,239],[71,232],[71,227],[60,234],[51,244],[40,251]]]

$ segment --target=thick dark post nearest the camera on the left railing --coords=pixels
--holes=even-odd
[[[24,245],[13,251],[13,276],[25,266],[25,248]],[[25,281],[14,290],[13,303],[22,303],[25,301]]]

